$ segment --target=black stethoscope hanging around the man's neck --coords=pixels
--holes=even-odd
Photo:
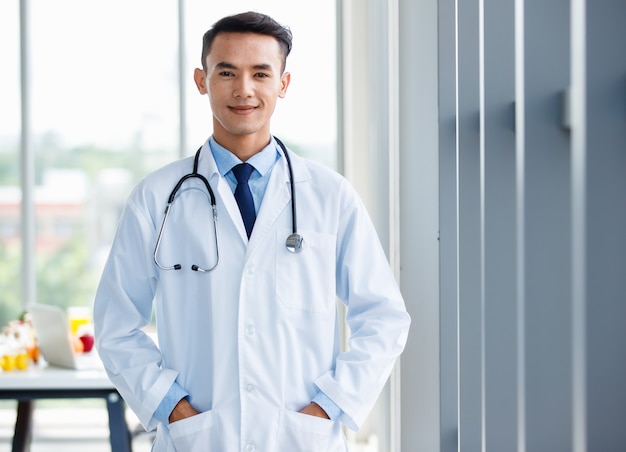
[[[287,148],[285,147],[283,142],[280,141],[276,137],[274,137],[274,139],[276,140],[280,148],[283,150],[283,155],[285,156],[285,160],[287,161],[287,168],[289,170],[289,187],[291,188],[292,233],[289,235],[289,237],[287,237],[285,246],[292,253],[300,253],[304,245],[304,239],[302,238],[300,234],[298,234],[298,225],[297,225],[297,218],[296,218],[296,189],[295,189],[295,183],[293,179],[293,168],[291,167],[291,159],[289,158],[289,152],[287,152]],[[170,193],[170,196],[167,200],[167,205],[165,206],[165,212],[163,216],[163,223],[161,223],[161,229],[159,230],[159,235],[157,237],[156,245],[154,247],[154,255],[153,255],[154,263],[157,264],[157,266],[161,270],[180,270],[182,268],[180,264],[174,264],[170,266],[162,265],[159,262],[157,255],[159,254],[159,248],[161,246],[161,239],[163,238],[163,231],[165,230],[165,225],[167,224],[167,218],[170,214],[170,209],[172,207],[172,204],[174,204],[174,200],[176,199],[176,194],[178,193],[178,190],[183,185],[183,183],[187,179],[191,179],[191,178],[200,179],[202,183],[204,184],[204,186],[206,187],[207,192],[209,193],[211,208],[213,209],[213,231],[215,233],[214,234],[215,236],[215,265],[213,265],[211,268],[203,268],[203,267],[200,267],[199,265],[193,264],[191,266],[191,269],[197,272],[203,272],[203,273],[209,272],[213,270],[215,267],[217,267],[217,264],[219,264],[220,262],[220,250],[219,250],[219,246],[217,243],[217,204],[215,202],[215,194],[213,193],[213,189],[211,188],[211,185],[209,184],[209,181],[207,180],[207,178],[204,177],[202,174],[198,173],[198,162],[200,161],[201,150],[202,150],[202,147],[198,149],[198,151],[196,152],[196,156],[193,159],[193,171],[189,174],[185,174],[183,177],[181,177],[178,180],[178,182],[174,186],[174,189],[172,190],[172,193]]]

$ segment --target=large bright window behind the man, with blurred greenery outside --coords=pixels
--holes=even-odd
[[[278,103],[274,133],[296,152],[336,167],[334,0],[306,15],[287,0],[268,0],[262,8],[243,1],[236,9],[227,2],[186,2],[182,68],[176,0],[30,0],[29,77],[23,79],[19,2],[0,2],[0,269],[10,275],[0,282],[0,325],[25,303],[21,82],[30,79],[24,108],[34,162],[34,301],[89,306],[132,187],[192,154],[211,133],[208,100],[193,83],[202,35],[224,15],[253,9],[294,32],[287,63],[292,83]],[[182,127],[181,117],[187,118]],[[188,149],[181,151],[180,143]]]

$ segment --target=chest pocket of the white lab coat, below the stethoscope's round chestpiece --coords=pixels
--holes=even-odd
[[[287,309],[328,314],[334,312],[336,237],[303,231],[301,253],[285,247],[291,230],[278,231],[276,246],[276,295]]]

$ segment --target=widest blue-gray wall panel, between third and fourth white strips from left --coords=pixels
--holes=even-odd
[[[569,87],[569,1],[521,2],[523,214],[518,253],[524,316],[525,450],[571,451],[570,140],[562,128]],[[520,118],[518,118],[520,120]],[[519,193],[518,193],[519,194]]]

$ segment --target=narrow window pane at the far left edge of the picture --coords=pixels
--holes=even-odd
[[[0,327],[20,301],[20,61],[19,2],[0,2]]]

